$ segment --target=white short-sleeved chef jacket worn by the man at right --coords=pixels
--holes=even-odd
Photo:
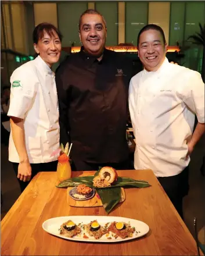
[[[156,72],[139,72],[130,81],[129,108],[136,148],[135,169],[152,169],[157,177],[182,172],[195,113],[204,123],[204,83],[198,72],[167,58]]]

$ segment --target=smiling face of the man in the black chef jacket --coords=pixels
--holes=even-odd
[[[79,36],[86,52],[93,56],[101,55],[107,37],[107,29],[102,16],[98,14],[83,15]]]

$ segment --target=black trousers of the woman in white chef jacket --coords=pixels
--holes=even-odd
[[[13,169],[15,170],[16,176],[18,174],[18,167],[19,163],[13,163]],[[57,169],[57,161],[49,162],[49,163],[31,163],[31,179],[38,172],[53,172]],[[21,193],[26,189],[30,182],[23,182],[22,180],[18,179]]]

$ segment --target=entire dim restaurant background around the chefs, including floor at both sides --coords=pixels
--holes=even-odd
[[[193,44],[188,37],[200,33],[199,23],[205,24],[204,1],[1,1],[1,92],[3,86],[9,86],[13,70],[34,58],[32,33],[37,24],[49,22],[59,28],[63,34],[62,61],[70,54],[71,47],[81,45],[78,19],[88,8],[99,10],[105,17],[107,46],[136,46],[143,26],[159,24],[167,44],[180,49],[179,52],[169,52],[168,58],[202,72],[204,46]],[[140,71],[142,67],[136,52],[125,51],[124,54],[133,59],[136,70]],[[205,154],[204,141],[203,137],[197,144],[190,163],[190,191],[184,204],[185,223],[190,232],[193,232],[194,216],[199,219],[199,229],[205,224],[204,176],[200,172]],[[8,145],[1,144],[1,149],[2,217],[20,190],[7,160]]]

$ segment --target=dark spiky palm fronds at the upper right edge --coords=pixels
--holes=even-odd
[[[205,83],[205,24],[202,26],[201,23],[199,23],[200,27],[200,33],[195,33],[194,35],[189,35],[188,40],[192,39],[192,44],[196,45],[203,45],[203,59],[202,59],[202,79]]]

